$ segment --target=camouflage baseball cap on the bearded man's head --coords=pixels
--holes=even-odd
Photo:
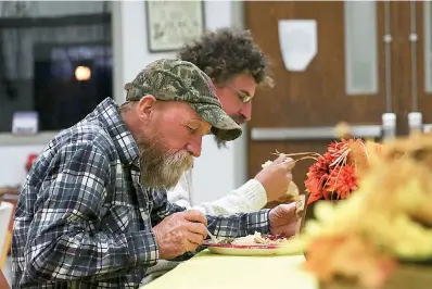
[[[241,127],[224,111],[208,76],[194,64],[181,60],[157,60],[125,85],[127,101],[144,96],[157,100],[185,101],[207,123],[221,140],[241,136]]]

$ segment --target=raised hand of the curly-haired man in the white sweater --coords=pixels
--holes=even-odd
[[[256,176],[267,193],[267,202],[287,197],[292,180],[291,169],[295,163],[293,159],[281,153],[270,165],[264,167]]]

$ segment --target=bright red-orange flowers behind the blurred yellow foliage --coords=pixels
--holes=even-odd
[[[310,193],[308,204],[317,200],[346,199],[357,189],[357,165],[367,163],[366,147],[361,139],[342,139],[331,142],[325,154],[310,166],[305,181]]]

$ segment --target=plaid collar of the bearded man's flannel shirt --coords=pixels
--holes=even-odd
[[[96,115],[104,125],[112,137],[118,152],[120,162],[126,165],[135,164],[139,166],[139,150],[132,135],[127,129],[125,122],[118,113],[118,105],[112,98],[104,99],[96,109]]]

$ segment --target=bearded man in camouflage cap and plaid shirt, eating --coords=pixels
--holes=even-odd
[[[14,216],[14,288],[137,288],[158,260],[190,257],[207,228],[293,234],[295,210],[204,216],[167,201],[204,135],[241,134],[203,72],[160,60],[125,88],[126,103],[105,99],[34,163]]]

